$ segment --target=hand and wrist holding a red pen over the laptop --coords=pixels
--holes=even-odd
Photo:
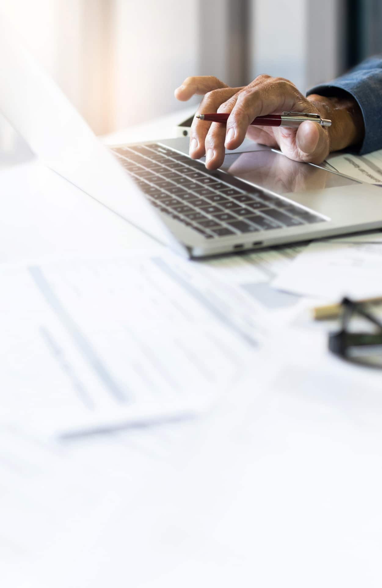
[[[305,98],[293,83],[284,78],[260,75],[248,86],[229,88],[213,76],[187,78],[175,90],[178,100],[205,95],[198,113],[229,113],[227,125],[194,119],[190,131],[190,156],[206,155],[206,167],[222,165],[225,149],[236,149],[245,136],[257,143],[278,147],[295,161],[321,163],[331,151],[360,142],[363,118],[355,101],[345,95],[327,98],[311,95]],[[332,125],[324,128],[306,121],[299,128],[250,126],[256,116],[293,112],[319,112]]]

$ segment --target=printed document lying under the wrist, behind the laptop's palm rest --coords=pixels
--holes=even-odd
[[[337,172],[351,176],[360,182],[382,184],[382,149],[367,155],[331,155],[327,158]]]

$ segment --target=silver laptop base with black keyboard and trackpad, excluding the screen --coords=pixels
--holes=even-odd
[[[192,258],[382,227],[382,189],[329,166],[246,141],[208,171],[188,148],[177,138],[111,149]]]

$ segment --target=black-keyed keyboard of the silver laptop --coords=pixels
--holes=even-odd
[[[206,239],[326,220],[162,145],[112,151],[153,206]]]

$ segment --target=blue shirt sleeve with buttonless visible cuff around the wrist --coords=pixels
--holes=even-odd
[[[336,88],[348,92],[360,106],[365,125],[360,155],[382,149],[382,56],[366,59],[333,82],[311,88],[307,95],[335,96]]]

